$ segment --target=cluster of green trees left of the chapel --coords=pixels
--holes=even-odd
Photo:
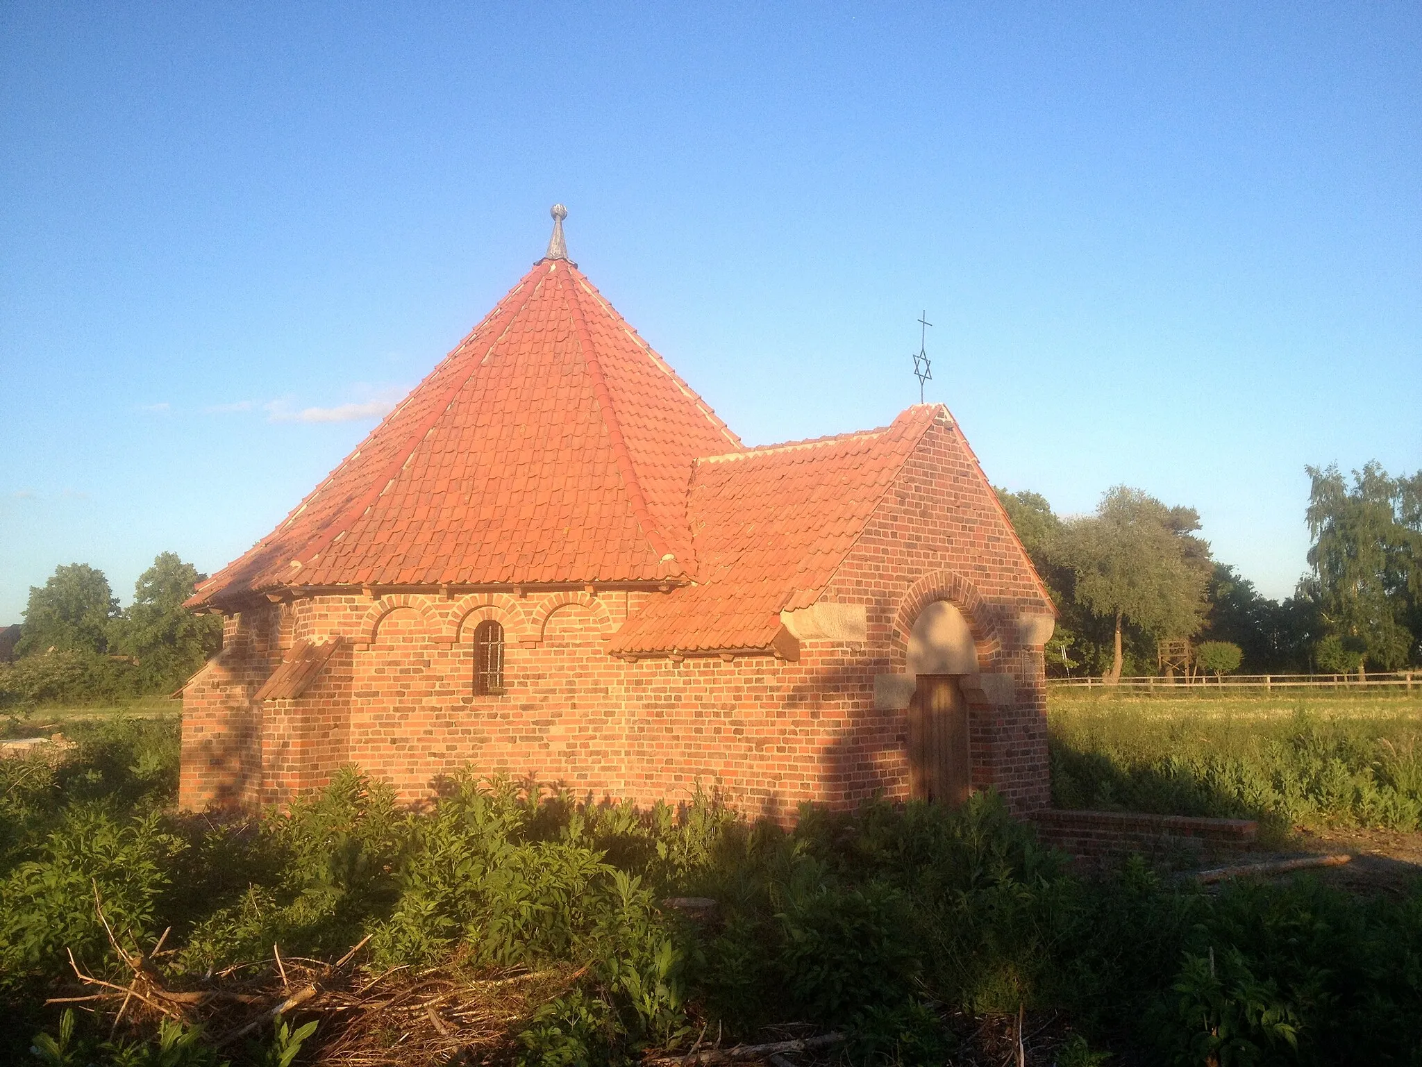
[[[175,552],[154,559],[119,610],[108,578],[88,563],[55,568],[30,600],[0,667],[0,707],[118,701],[171,693],[222,647],[222,619],[183,602],[206,575]]]

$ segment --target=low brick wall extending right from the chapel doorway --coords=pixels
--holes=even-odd
[[[1253,819],[1216,819],[1199,815],[1152,815],[1139,811],[1032,812],[1038,838],[1082,859],[1139,852],[1149,858],[1190,854],[1197,859],[1243,852],[1254,844]]]

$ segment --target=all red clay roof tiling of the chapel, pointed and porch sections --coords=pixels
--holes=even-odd
[[[675,579],[610,652],[766,650],[781,610],[816,600],[940,413],[920,404],[880,430],[744,448],[573,263],[543,259],[189,605],[226,610],[284,586]],[[279,669],[283,693],[314,677],[316,654]]]

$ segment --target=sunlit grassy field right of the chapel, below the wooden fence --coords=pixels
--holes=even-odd
[[[1422,825],[1422,691],[1111,694],[1055,689],[1052,795],[1065,808]]]

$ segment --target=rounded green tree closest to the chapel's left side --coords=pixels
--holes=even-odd
[[[114,622],[114,646],[138,660],[149,691],[181,684],[222,647],[220,616],[182,606],[203,578],[178,553],[164,552],[139,575],[134,603]]]

